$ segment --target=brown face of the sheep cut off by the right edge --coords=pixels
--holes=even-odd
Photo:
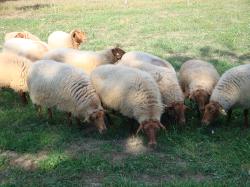
[[[211,121],[219,116],[221,106],[218,102],[210,101],[206,107],[202,118],[202,124],[209,125]]]

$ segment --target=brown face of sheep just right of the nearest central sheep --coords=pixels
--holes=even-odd
[[[167,113],[169,113],[170,116],[174,117],[178,123],[182,125],[186,123],[186,118],[185,118],[186,106],[184,105],[183,102],[172,103],[170,106],[166,108],[166,110]]]

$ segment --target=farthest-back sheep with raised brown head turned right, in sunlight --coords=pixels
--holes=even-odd
[[[70,33],[55,31],[48,37],[48,44],[51,49],[56,48],[73,48],[79,49],[81,43],[87,40],[86,33],[75,29]]]

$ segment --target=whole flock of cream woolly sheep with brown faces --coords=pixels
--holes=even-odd
[[[69,124],[74,116],[100,133],[106,130],[105,109],[118,111],[139,123],[136,133],[144,131],[149,146],[156,145],[156,131],[165,129],[164,113],[185,124],[185,98],[197,103],[203,124],[242,108],[248,126],[250,64],[220,77],[212,64],[189,60],[177,76],[169,62],[154,55],[118,47],[79,50],[85,41],[86,34],[78,29],[53,32],[48,43],[27,31],[7,33],[0,53],[0,87],[19,92],[23,103],[28,92],[39,112],[48,108],[50,118],[56,107],[67,113]]]

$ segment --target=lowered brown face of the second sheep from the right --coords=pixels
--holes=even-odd
[[[210,94],[205,90],[196,90],[190,94],[189,99],[193,100],[198,104],[199,111],[201,114],[204,113],[205,105],[209,102]]]

